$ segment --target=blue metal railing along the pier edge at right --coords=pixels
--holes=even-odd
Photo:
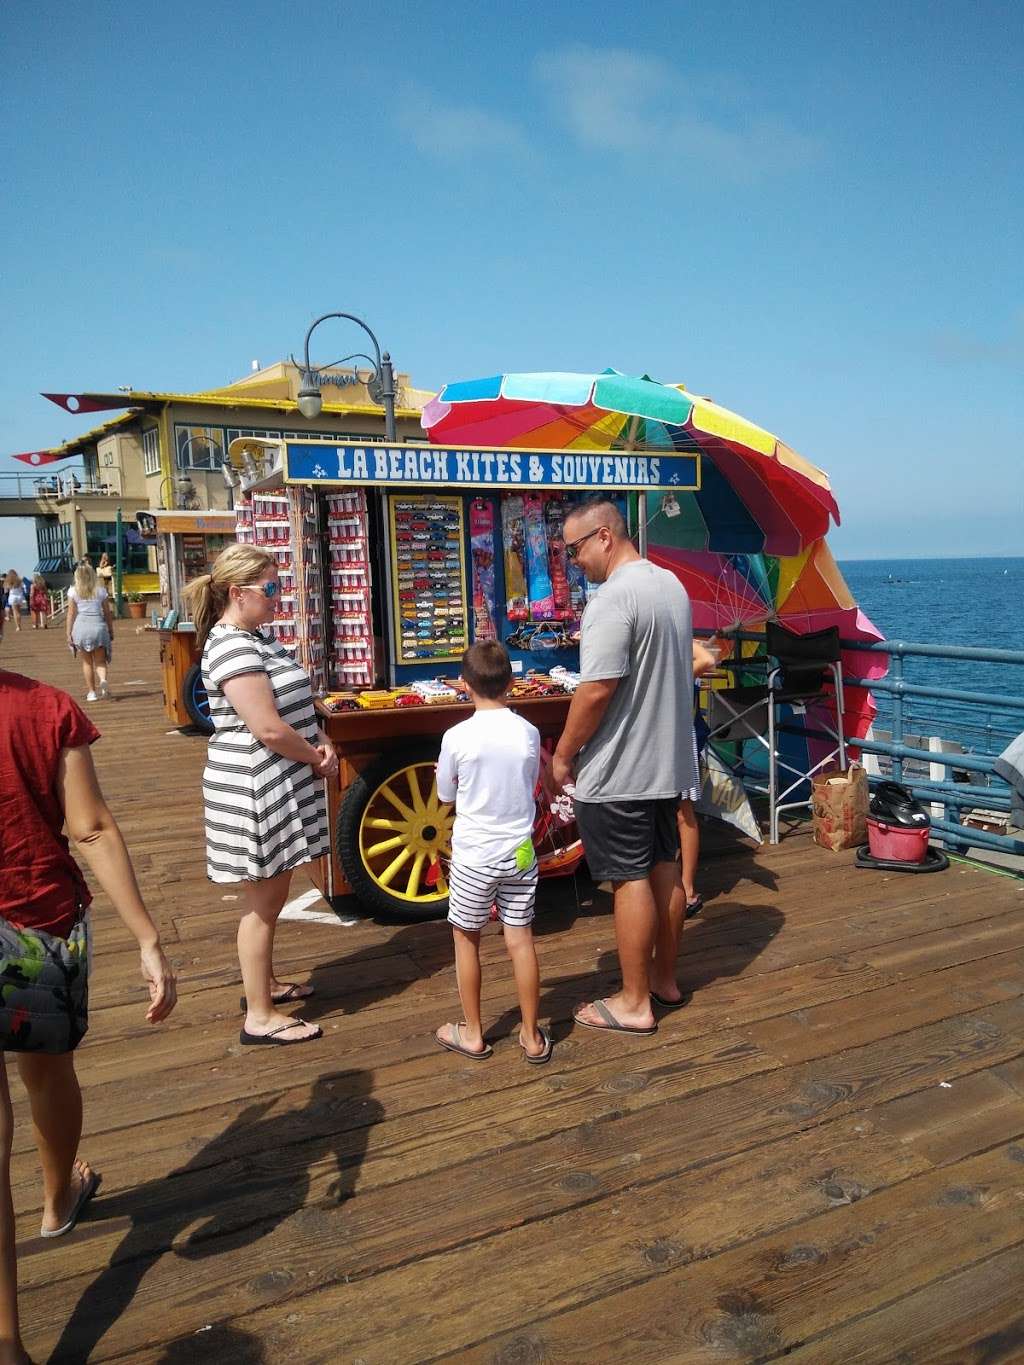
[[[763,633],[754,631],[718,633],[732,640],[765,640]],[[950,849],[963,852],[975,846],[1024,857],[1024,838],[963,823],[965,814],[978,809],[1006,818],[1009,823],[1010,788],[995,773],[994,762],[1010,740],[1024,732],[1024,650],[904,640],[840,643],[844,650],[889,657],[886,677],[844,673],[845,685],[867,688],[878,704],[871,737],[852,741],[853,747],[887,760],[893,781],[908,786],[916,797],[931,804],[933,811],[941,808],[941,814],[933,814],[931,827]],[[916,661],[933,678],[941,665],[942,680],[908,682],[909,661]],[[1014,684],[1020,680],[1019,691],[948,685],[950,680],[971,682],[983,667],[1021,669],[1014,677]],[[792,725],[797,723],[793,718]],[[935,775],[937,770],[943,775]]]

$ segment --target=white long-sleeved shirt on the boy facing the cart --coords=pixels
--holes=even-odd
[[[530,838],[539,771],[541,733],[508,707],[475,711],[445,732],[437,794],[455,801],[452,853],[461,863],[493,867]]]

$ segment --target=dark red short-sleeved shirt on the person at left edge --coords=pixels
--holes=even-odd
[[[0,916],[66,938],[91,901],[61,833],[63,749],[100,738],[67,692],[0,669]]]

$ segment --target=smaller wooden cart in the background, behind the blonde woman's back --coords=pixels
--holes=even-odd
[[[139,535],[156,546],[160,576],[160,672],[164,713],[173,725],[194,725],[210,734],[210,707],[199,673],[195,629],[182,607],[186,583],[209,573],[220,551],[235,539],[233,512],[139,512]]]

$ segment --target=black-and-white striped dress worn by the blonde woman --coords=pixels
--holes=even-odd
[[[261,744],[224,695],[224,684],[243,673],[266,673],[281,719],[310,744],[318,740],[309,676],[288,651],[262,635],[214,625],[202,651],[213,721],[202,775],[212,882],[261,882],[330,846],[322,778]]]

